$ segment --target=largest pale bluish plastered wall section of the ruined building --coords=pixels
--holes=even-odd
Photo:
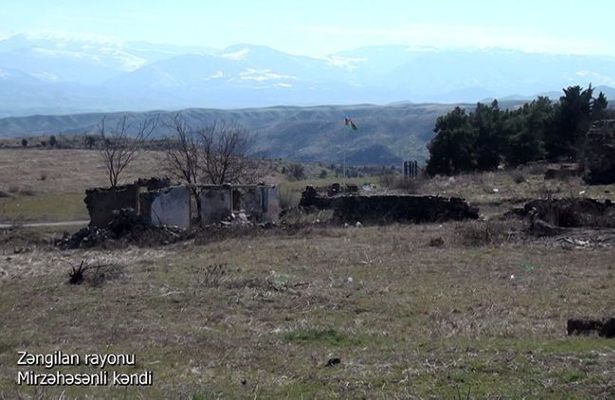
[[[140,216],[147,224],[190,227],[190,189],[172,186],[139,195]]]

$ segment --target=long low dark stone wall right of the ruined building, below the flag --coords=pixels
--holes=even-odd
[[[478,218],[478,209],[463,199],[440,196],[319,196],[314,188],[303,192],[301,207],[332,209],[339,222],[440,222]]]

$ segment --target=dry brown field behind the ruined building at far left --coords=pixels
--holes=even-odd
[[[139,154],[121,183],[163,176],[163,154]],[[100,154],[89,150],[0,149],[0,223],[87,219],[85,190],[109,186]]]

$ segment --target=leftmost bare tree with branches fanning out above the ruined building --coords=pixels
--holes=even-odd
[[[134,160],[137,150],[143,147],[158,124],[158,118],[146,119],[134,129],[134,136],[129,136],[132,124],[128,117],[121,118],[113,129],[107,131],[105,118],[100,123],[100,154],[107,170],[111,187],[117,186],[120,174]]]

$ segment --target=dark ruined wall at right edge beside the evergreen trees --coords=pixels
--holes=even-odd
[[[615,183],[615,120],[597,121],[585,140],[585,174],[590,185]]]

